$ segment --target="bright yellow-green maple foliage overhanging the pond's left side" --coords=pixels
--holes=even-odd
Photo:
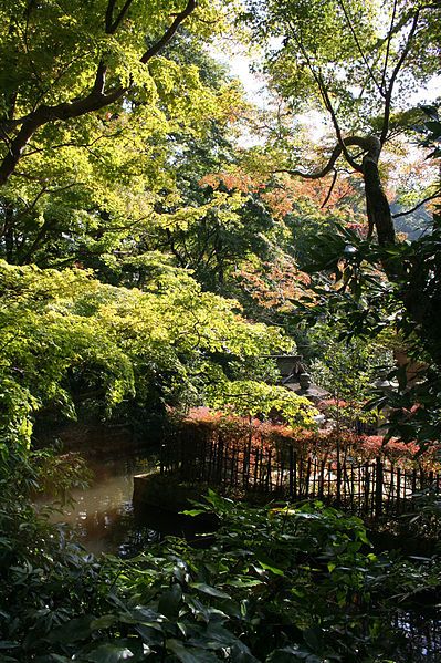
[[[241,371],[248,361],[259,371],[258,359],[286,343],[183,272],[159,274],[141,292],[84,270],[0,270],[4,459],[11,445],[29,444],[43,406],[74,417],[87,401],[101,415],[133,398],[150,410],[195,403],[212,380],[228,385],[224,371],[234,376],[239,359]]]

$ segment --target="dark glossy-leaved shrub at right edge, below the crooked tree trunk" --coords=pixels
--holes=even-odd
[[[422,448],[439,441],[439,236],[435,219],[431,234],[381,249],[337,226],[333,234],[317,237],[308,267],[334,272],[336,287],[324,287],[318,276],[313,288],[316,305],[305,301],[303,310],[309,323],[324,317],[338,323],[342,340],[370,343],[389,338],[387,345],[405,348],[408,362],[417,362],[417,381],[408,384],[406,366],[391,370],[396,387],[378,392],[371,406],[390,407],[389,436],[417,439]],[[380,271],[384,260],[401,266],[395,279],[386,280]]]

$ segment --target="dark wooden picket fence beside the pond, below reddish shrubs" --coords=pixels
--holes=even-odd
[[[160,472],[221,493],[318,499],[374,519],[409,510],[412,495],[429,486],[441,489],[441,475],[422,467],[380,458],[363,463],[343,454],[337,459],[329,454],[318,457],[292,444],[270,446],[221,433],[195,435],[191,428],[164,443]]]

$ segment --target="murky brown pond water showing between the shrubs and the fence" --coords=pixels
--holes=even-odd
[[[144,507],[141,514],[134,511],[133,477],[154,472],[158,457],[158,449],[149,448],[135,455],[91,459],[88,466],[94,478],[90,487],[73,493],[74,506],[66,508],[63,516],[57,515],[56,521],[71,525],[85,549],[95,555],[111,552],[130,557],[166,535],[193,540],[201,526],[192,519],[157,507]],[[406,636],[409,661],[441,661],[439,615],[426,614],[423,610],[420,614],[397,611],[393,625]]]

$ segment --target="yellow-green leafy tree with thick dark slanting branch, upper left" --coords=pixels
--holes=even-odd
[[[219,11],[182,4],[2,3],[0,53],[12,63],[0,79],[8,261],[55,266],[115,248],[174,188],[170,134],[223,122],[231,85],[207,74],[202,58]]]

